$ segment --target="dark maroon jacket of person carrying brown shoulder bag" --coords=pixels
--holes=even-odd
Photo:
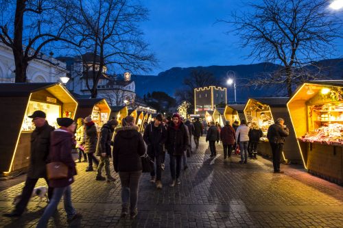
[[[62,129],[51,132],[51,145],[49,160],[50,162],[62,162],[68,167],[68,177],[64,179],[51,179],[49,186],[53,188],[63,188],[71,185],[76,175],[75,162],[71,156],[73,145],[73,134]]]

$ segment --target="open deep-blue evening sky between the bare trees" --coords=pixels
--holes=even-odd
[[[255,1],[256,3],[257,1]],[[234,34],[227,35],[230,12],[242,10],[234,0],[145,0],[149,21],[141,24],[144,39],[160,61],[157,75],[171,67],[250,64],[248,49],[241,49]],[[340,13],[342,15],[342,12]],[[338,47],[342,56],[343,47]]]

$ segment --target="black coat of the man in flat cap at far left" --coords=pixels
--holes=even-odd
[[[31,134],[31,151],[27,177],[38,179],[47,176],[47,157],[50,149],[50,134],[54,131],[47,122],[42,127],[36,127]]]

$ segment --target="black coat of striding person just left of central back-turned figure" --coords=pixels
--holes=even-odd
[[[100,131],[100,138],[99,140],[97,140],[97,156],[101,156],[102,153],[106,153],[106,155],[110,157],[110,145],[112,142],[113,131],[113,127],[108,125],[107,123],[102,126],[102,129]]]

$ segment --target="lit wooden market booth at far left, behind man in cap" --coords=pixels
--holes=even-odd
[[[35,127],[34,111],[47,114],[49,125],[58,128],[56,118],[74,118],[77,101],[58,83],[0,84],[0,171],[10,173],[29,166],[30,138]]]

